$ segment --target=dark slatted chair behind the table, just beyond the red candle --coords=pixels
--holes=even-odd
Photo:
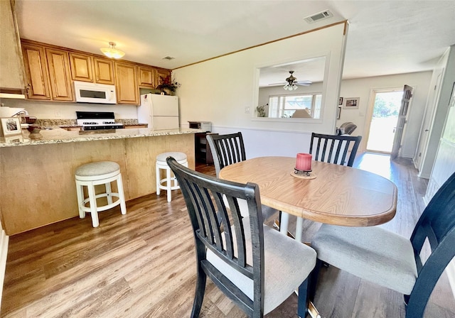
[[[362,136],[311,133],[310,153],[316,161],[352,167],[361,140]]]

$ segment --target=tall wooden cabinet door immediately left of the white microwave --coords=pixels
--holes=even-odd
[[[68,52],[46,48],[45,53],[48,62],[51,98],[54,101],[72,102],[74,94]]]

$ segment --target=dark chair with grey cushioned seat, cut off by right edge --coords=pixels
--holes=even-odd
[[[431,254],[420,256],[428,240]],[[311,246],[318,264],[311,276],[311,298],[321,261],[405,295],[406,317],[424,317],[429,296],[455,256],[455,173],[439,188],[405,238],[378,226],[323,224]],[[425,253],[424,253],[425,254]]]

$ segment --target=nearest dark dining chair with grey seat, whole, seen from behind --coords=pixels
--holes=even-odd
[[[316,252],[263,225],[259,187],[203,175],[171,157],[167,163],[193,226],[197,280],[191,317],[199,316],[207,277],[249,317],[263,317],[298,289],[297,313],[305,317]],[[248,217],[240,215],[239,199],[247,201]]]

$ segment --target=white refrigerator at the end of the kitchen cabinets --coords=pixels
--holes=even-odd
[[[149,128],[178,129],[178,97],[160,94],[141,95],[141,106],[137,107],[139,124]]]

